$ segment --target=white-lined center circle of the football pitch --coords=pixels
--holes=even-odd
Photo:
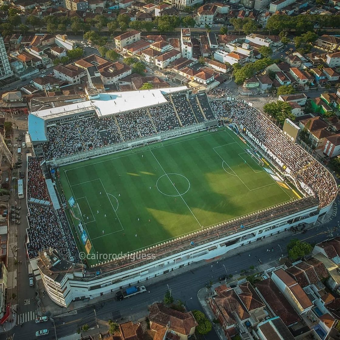
[[[189,191],[190,182],[187,177],[179,173],[166,173],[159,177],[156,187],[163,195],[178,197]]]

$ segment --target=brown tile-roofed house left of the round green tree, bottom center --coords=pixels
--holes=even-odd
[[[179,340],[187,340],[188,336],[195,333],[195,328],[198,326],[191,312],[180,312],[166,307],[163,303],[152,304],[149,306],[149,311],[150,329],[156,334],[159,331],[166,333],[169,330],[179,336]],[[157,338],[164,339],[165,334],[163,337],[157,335]],[[171,337],[169,336],[168,339]]]

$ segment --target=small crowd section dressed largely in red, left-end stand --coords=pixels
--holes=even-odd
[[[50,200],[45,185],[45,177],[40,167],[40,161],[36,158],[29,158],[28,160],[27,196],[28,199]]]

